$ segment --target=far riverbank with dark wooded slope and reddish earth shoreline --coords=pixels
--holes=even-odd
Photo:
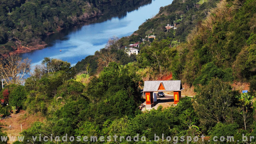
[[[94,18],[97,19],[96,21],[101,20],[101,22],[113,17],[122,18],[126,16],[127,12],[138,10],[140,6],[151,2],[152,0],[106,0],[104,2],[73,0],[72,2],[65,1],[62,4],[48,4],[46,2],[47,7],[36,1],[34,3],[26,2],[23,6],[17,7],[17,10],[12,9],[11,13],[5,17],[3,24],[0,22],[0,35],[2,36],[0,38],[0,58],[10,54],[10,52],[26,53],[45,48],[46,45],[41,44],[33,45],[33,48],[26,45],[30,46],[35,39],[44,41],[44,37],[56,34],[62,29],[70,29],[83,23],[93,24]],[[31,11],[31,8],[34,8],[34,11]],[[19,9],[24,12],[20,13]],[[25,12],[29,14],[25,14]],[[5,14],[2,15],[5,16]],[[20,17],[22,22],[16,20],[16,17]],[[10,26],[4,24],[9,21],[13,22],[10,23]],[[16,44],[16,40],[20,41],[21,45]]]

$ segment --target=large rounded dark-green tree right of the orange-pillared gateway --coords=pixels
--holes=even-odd
[[[223,122],[233,100],[234,92],[231,86],[219,78],[213,78],[208,85],[198,89],[193,101],[200,121],[207,125]]]

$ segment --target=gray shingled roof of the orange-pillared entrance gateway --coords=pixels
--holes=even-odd
[[[165,90],[158,90],[160,83],[163,84]],[[182,84],[180,80],[156,80],[145,81],[144,92],[162,92],[162,91],[182,91]]]

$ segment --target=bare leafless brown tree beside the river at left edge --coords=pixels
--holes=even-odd
[[[31,60],[22,60],[16,54],[10,54],[0,63],[0,77],[6,84],[20,84],[24,76],[30,71]]]

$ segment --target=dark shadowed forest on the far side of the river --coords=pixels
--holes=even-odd
[[[152,0],[1,0],[0,57],[90,18],[122,17]],[[124,7],[125,6],[125,7]]]

